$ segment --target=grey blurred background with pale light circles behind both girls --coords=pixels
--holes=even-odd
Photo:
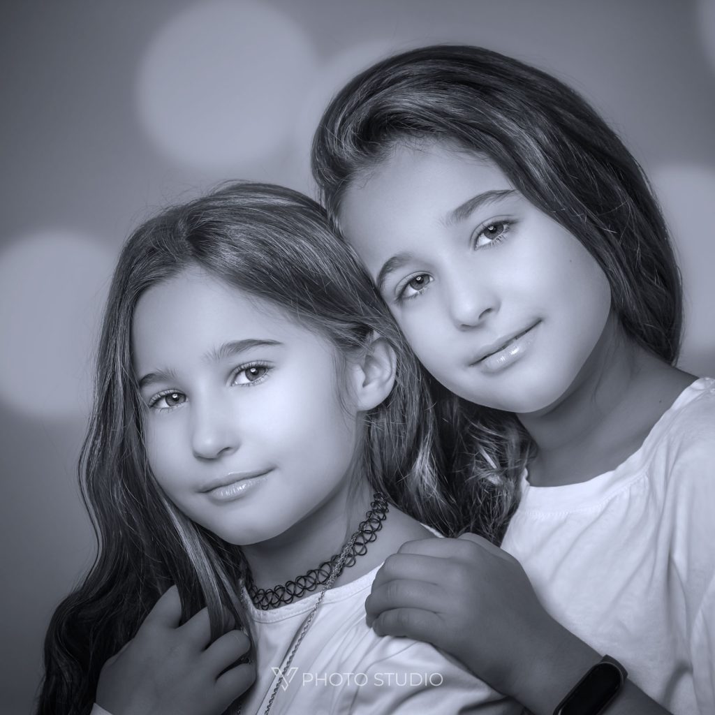
[[[385,54],[483,44],[551,71],[644,165],[715,374],[715,0],[5,0],[0,22],[0,713],[31,711],[44,630],[92,561],[75,476],[119,246],[226,178],[312,192],[333,92]]]

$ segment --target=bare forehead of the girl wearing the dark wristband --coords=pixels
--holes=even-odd
[[[340,226],[370,266],[408,250],[415,232],[443,228],[468,199],[511,188],[501,169],[475,152],[449,144],[398,145],[347,188]]]

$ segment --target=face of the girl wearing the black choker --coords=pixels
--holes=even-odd
[[[149,464],[189,518],[246,545],[344,510],[358,411],[327,339],[196,269],[142,295],[132,349]]]

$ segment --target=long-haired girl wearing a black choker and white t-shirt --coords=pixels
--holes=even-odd
[[[80,469],[99,554],[39,713],[521,711],[365,623],[385,558],[458,528],[421,380],[310,199],[232,184],[139,227]]]

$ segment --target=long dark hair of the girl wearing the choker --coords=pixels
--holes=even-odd
[[[147,288],[200,267],[272,302],[340,352],[382,335],[398,356],[385,403],[365,419],[360,473],[404,511],[446,533],[461,517],[445,495],[428,390],[418,364],[350,247],[311,199],[267,184],[231,184],[162,212],[129,238],[109,291],[96,395],[79,476],[97,558],[56,609],[45,641],[41,714],[87,713],[105,661],[134,636],[157,598],[179,587],[184,618],[207,606],[214,637],[246,623],[239,548],[184,516],[152,477],[130,342]],[[247,624],[250,625],[250,624]]]

